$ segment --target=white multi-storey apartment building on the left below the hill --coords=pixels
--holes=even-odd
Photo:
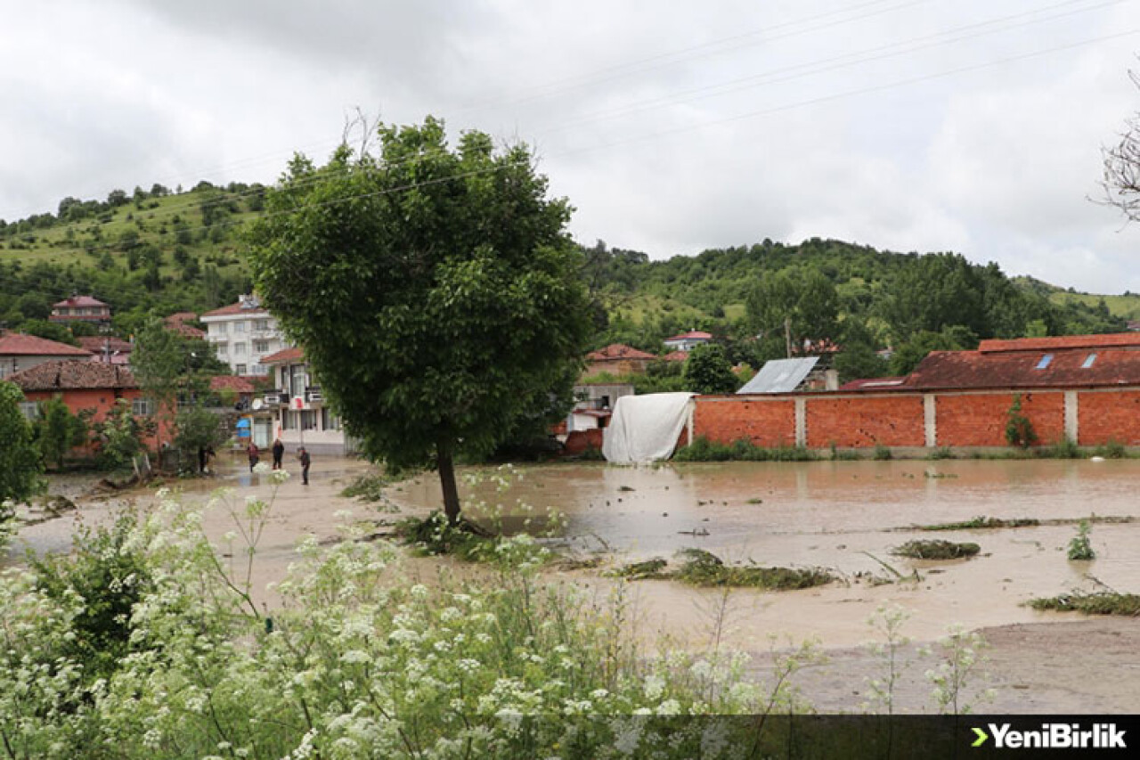
[[[285,348],[285,339],[268,310],[255,296],[239,296],[237,304],[206,312],[206,340],[230,372],[242,377],[269,373],[261,359]]]

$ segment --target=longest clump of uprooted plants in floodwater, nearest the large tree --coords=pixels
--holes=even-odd
[[[667,569],[669,563],[654,557],[641,563],[624,565],[610,574],[628,580],[675,580],[699,587],[748,587],[772,591],[791,591],[824,585],[834,576],[822,567],[762,567],[755,564],[726,565],[716,555],[703,549],[682,549],[677,569]]]

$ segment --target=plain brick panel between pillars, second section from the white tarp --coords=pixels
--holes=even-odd
[[[922,446],[921,396],[807,397],[807,446]]]

